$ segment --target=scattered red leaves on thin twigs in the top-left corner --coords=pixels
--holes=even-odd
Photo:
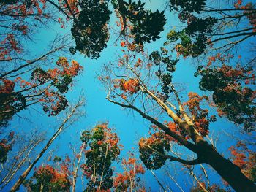
[[[0,60],[9,61],[12,55],[21,53],[20,37],[29,36],[35,20],[48,19],[45,0],[16,1],[15,4],[1,3],[1,26],[4,31],[0,42]]]

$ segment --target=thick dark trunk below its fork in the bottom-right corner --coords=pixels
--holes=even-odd
[[[200,148],[199,157],[211,165],[235,191],[256,191],[256,185],[241,172],[241,169],[222,157],[211,145],[205,142]]]

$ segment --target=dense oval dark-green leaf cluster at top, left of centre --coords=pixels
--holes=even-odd
[[[107,24],[111,12],[108,2],[83,0],[79,5],[81,11],[71,29],[75,49],[90,58],[99,58],[99,53],[107,46],[109,39]]]

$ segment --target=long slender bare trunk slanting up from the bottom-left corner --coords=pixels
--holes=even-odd
[[[34,165],[37,164],[37,161],[39,161],[39,159],[42,157],[42,155],[44,155],[45,151],[48,150],[48,148],[50,147],[50,145],[52,144],[52,142],[56,139],[56,137],[59,136],[59,134],[61,133],[61,131],[64,128],[64,125],[67,123],[67,120],[69,120],[69,118],[72,117],[72,115],[75,113],[75,110],[78,108],[80,102],[72,109],[72,111],[70,112],[70,114],[67,116],[67,118],[63,121],[63,123],[61,124],[61,126],[59,126],[58,130],[55,132],[55,134],[53,134],[53,137],[51,137],[49,139],[49,141],[47,142],[47,144],[45,145],[45,147],[42,149],[42,151],[37,155],[37,158],[35,158],[35,160],[33,161],[32,164],[30,164],[30,166],[25,170],[25,172],[23,172],[23,174],[20,175],[20,177],[18,178],[18,181],[12,186],[10,192],[14,192],[17,191],[20,188],[20,185],[24,182],[24,180],[26,179],[26,177],[28,176],[29,172],[31,172],[31,169],[33,169]]]

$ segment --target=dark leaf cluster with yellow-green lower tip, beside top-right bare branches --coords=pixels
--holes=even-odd
[[[211,35],[217,18],[208,16],[206,18],[197,18],[192,12],[200,13],[206,6],[202,1],[172,1],[170,0],[170,9],[174,7],[179,11],[178,18],[187,26],[181,31],[171,30],[167,35],[167,42],[176,42],[176,51],[184,57],[197,57],[202,54],[208,45],[208,35]],[[181,7],[178,9],[178,7]],[[180,40],[180,42],[178,42]]]

